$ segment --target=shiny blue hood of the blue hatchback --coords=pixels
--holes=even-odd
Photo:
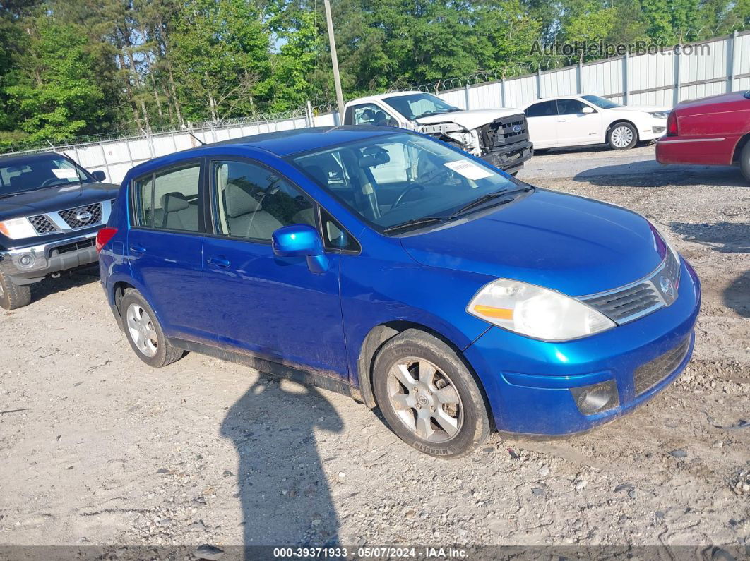
[[[537,189],[479,218],[402,237],[401,244],[431,267],[583,296],[627,285],[655,270],[662,258],[654,235],[649,222],[630,210]]]

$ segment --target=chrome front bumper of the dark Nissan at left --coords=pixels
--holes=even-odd
[[[0,252],[0,268],[17,285],[30,285],[51,273],[95,263],[96,231]]]

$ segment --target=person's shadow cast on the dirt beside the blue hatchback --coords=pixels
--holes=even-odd
[[[245,548],[338,544],[338,516],[315,431],[343,428],[318,389],[266,374],[229,408],[221,434],[239,455]],[[245,551],[246,559],[254,557]]]

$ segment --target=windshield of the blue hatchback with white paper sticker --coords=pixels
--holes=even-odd
[[[424,218],[452,219],[484,195],[520,187],[463,152],[413,133],[376,136],[290,160],[379,231]]]

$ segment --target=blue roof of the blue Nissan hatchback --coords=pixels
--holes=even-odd
[[[404,130],[394,129],[393,127],[373,127],[369,125],[280,130],[275,133],[223,140],[160,156],[135,166],[128,172],[128,175],[149,172],[151,169],[157,169],[165,164],[178,163],[190,158],[215,156],[217,153],[239,156],[242,155],[243,148],[262,150],[277,157],[286,157],[290,154],[356,142],[373,136],[404,132]],[[220,150],[220,148],[223,148],[223,150]]]

